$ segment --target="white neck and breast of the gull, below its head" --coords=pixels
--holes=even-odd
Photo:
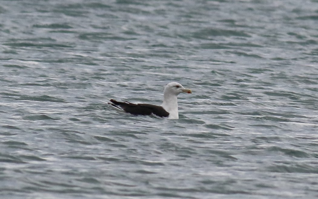
[[[164,110],[169,112],[169,119],[179,119],[178,99],[175,94],[164,92],[161,106],[164,108]]]

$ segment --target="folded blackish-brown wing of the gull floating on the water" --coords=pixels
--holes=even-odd
[[[164,110],[162,106],[156,106],[152,104],[133,104],[130,102],[119,102],[116,100],[111,99],[110,100],[113,104],[112,106],[115,106],[118,108],[121,107],[125,112],[128,112],[133,115],[151,115],[154,114],[159,117],[168,117],[169,112]]]

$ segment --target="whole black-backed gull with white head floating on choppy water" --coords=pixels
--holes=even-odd
[[[163,102],[161,106],[152,104],[133,104],[130,102],[119,102],[111,99],[108,104],[118,110],[131,113],[133,115],[154,115],[158,117],[168,117],[168,119],[179,119],[178,99],[180,93],[192,93],[190,89],[184,88],[177,82],[171,82],[164,87]]]

